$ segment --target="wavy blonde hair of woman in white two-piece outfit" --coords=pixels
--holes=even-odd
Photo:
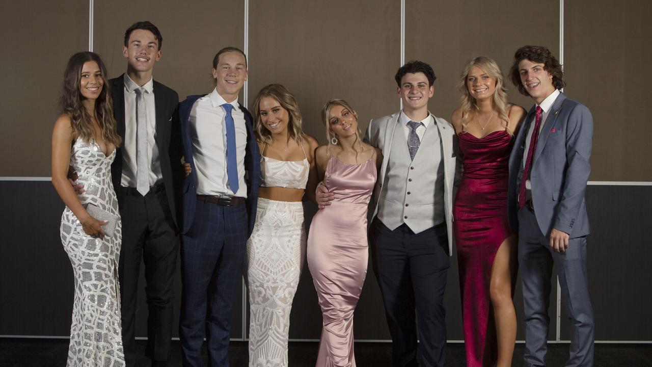
[[[263,125],[260,119],[260,100],[263,97],[272,97],[273,99],[281,105],[286,111],[288,111],[289,121],[288,121],[288,133],[291,138],[297,142],[297,144],[303,144],[303,138],[305,134],[301,130],[301,112],[299,112],[299,105],[297,104],[297,99],[289,93],[288,89],[280,84],[269,84],[269,86],[263,87],[258,92],[256,100],[254,100],[254,120],[256,121],[256,138],[260,142],[265,144],[272,144],[274,138],[272,138],[272,133]]]

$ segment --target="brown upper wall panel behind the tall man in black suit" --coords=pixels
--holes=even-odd
[[[175,89],[182,101],[186,95],[211,91],[211,64],[220,48],[244,44],[242,1],[202,0],[183,7],[171,0],[96,1],[95,51],[104,58],[111,78],[126,71],[125,30],[141,20],[155,24],[163,36],[155,80]]]

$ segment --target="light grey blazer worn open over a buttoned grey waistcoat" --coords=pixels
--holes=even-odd
[[[434,115],[433,115],[434,117]],[[387,187],[381,187],[385,181],[385,174],[387,174],[387,167],[389,157],[391,155],[391,148],[394,137],[395,129],[402,129],[399,123],[400,112],[384,116],[381,118],[373,119],[369,122],[364,135],[364,142],[379,148],[383,152],[383,163],[378,171],[378,180],[376,180],[376,187],[374,188],[374,217],[378,213],[378,200],[382,194],[382,190]],[[455,197],[457,185],[460,180],[460,162],[458,161],[458,140],[455,135],[455,129],[452,125],[443,118],[434,117],[439,135],[441,136],[441,146],[443,150],[443,166],[444,166],[444,213],[446,217],[446,224],[448,226],[449,238],[449,254],[452,255],[452,243],[454,241],[452,235],[452,200]],[[432,127],[431,127],[432,128]],[[406,143],[407,144],[407,143]],[[406,145],[407,146],[407,145]],[[435,175],[437,172],[432,172]],[[434,188],[433,188],[434,189]],[[428,196],[428,195],[424,195]],[[397,214],[400,215],[400,214]]]

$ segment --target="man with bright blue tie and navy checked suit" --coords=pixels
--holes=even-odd
[[[246,56],[222,48],[213,59],[215,89],[179,104],[186,163],[183,193],[183,294],[179,336],[184,366],[228,366],[231,306],[254,228],[260,164],[252,116],[238,103]]]

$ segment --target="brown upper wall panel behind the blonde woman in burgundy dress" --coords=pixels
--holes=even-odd
[[[469,59],[492,57],[507,78],[514,52],[526,44],[559,54],[559,3],[534,0],[410,0],[406,7],[406,61],[419,59],[437,75],[430,111],[451,120],[459,106],[457,84]],[[527,16],[526,16],[527,15]],[[536,18],[533,18],[536,16]],[[529,109],[533,102],[506,81],[510,101]]]

